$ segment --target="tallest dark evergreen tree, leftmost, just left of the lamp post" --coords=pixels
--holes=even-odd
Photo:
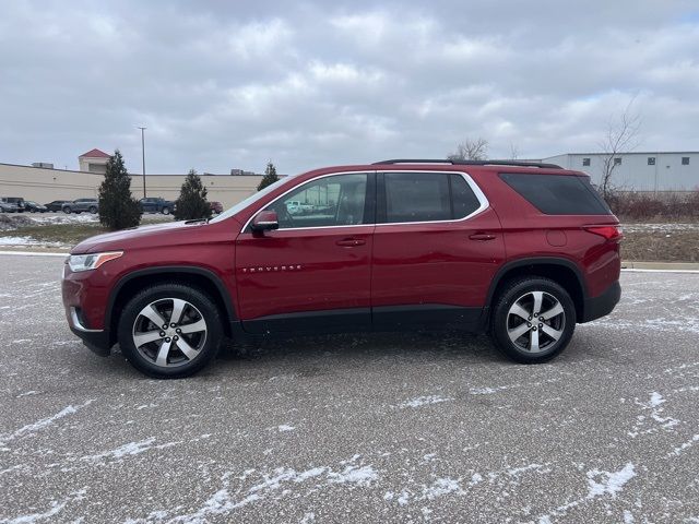
[[[131,195],[131,178],[119,150],[107,162],[107,172],[99,186],[99,223],[108,229],[141,223],[141,204]]]

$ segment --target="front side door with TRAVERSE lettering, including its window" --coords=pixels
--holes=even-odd
[[[236,240],[242,326],[252,333],[370,325],[374,172],[324,175],[277,198],[280,227]],[[304,214],[289,213],[296,203]],[[262,211],[262,210],[260,210]]]

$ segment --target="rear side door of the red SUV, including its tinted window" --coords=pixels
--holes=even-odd
[[[377,177],[371,305],[381,327],[470,329],[505,258],[500,222],[466,174]]]

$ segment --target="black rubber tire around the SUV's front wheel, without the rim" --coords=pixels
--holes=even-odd
[[[135,347],[134,324],[143,308],[154,301],[173,298],[186,300],[196,308],[197,313],[201,313],[206,323],[205,340],[193,359],[175,367],[157,366]],[[158,284],[143,289],[125,306],[119,319],[117,337],[121,352],[139,371],[156,379],[181,379],[197,373],[217,355],[223,340],[221,312],[211,297],[196,287],[176,283]],[[177,354],[177,349],[174,353]]]

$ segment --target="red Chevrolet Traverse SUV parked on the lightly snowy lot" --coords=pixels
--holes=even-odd
[[[152,377],[198,371],[224,336],[301,332],[488,332],[533,364],[614,309],[620,239],[582,172],[386,160],[283,178],[211,221],[84,240],[62,294],[87,347],[119,343]]]

